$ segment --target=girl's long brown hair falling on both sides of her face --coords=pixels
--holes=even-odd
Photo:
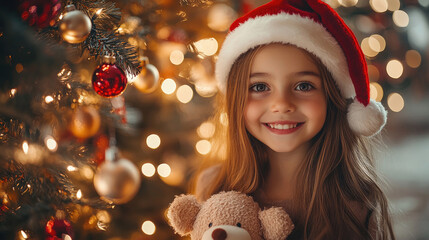
[[[218,96],[218,113],[227,124],[215,121],[218,134],[209,159],[221,160],[219,174],[205,189],[201,199],[219,191],[236,190],[252,194],[267,173],[266,147],[244,125],[248,78],[255,55],[264,46],[240,56],[231,68],[225,96]],[[376,138],[356,135],[347,121],[348,102],[320,60],[308,53],[318,66],[325,95],[327,116],[322,130],[312,139],[301,163],[293,206],[302,213],[294,219],[303,226],[304,239],[343,239],[350,233],[358,239],[371,239],[365,223],[353,214],[350,202],[357,202],[377,219],[377,239],[394,239],[387,200],[378,185],[370,146]],[[226,137],[225,137],[226,136]],[[219,156],[219,153],[225,153]],[[299,204],[298,204],[299,203]],[[334,229],[335,228],[335,229]]]

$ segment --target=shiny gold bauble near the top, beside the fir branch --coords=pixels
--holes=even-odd
[[[92,23],[82,11],[74,5],[67,5],[59,26],[61,37],[68,43],[81,43],[91,32]]]

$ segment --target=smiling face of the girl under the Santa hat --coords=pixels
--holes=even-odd
[[[317,65],[295,46],[270,44],[250,68],[247,130],[275,152],[308,147],[322,129],[327,101]]]

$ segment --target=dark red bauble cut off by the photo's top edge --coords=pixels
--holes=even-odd
[[[21,19],[39,28],[54,25],[60,10],[60,0],[21,0],[18,6]]]

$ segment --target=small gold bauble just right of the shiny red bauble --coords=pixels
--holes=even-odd
[[[134,86],[142,93],[151,93],[159,86],[159,71],[149,64],[147,58],[142,61],[142,71],[134,78]]]

